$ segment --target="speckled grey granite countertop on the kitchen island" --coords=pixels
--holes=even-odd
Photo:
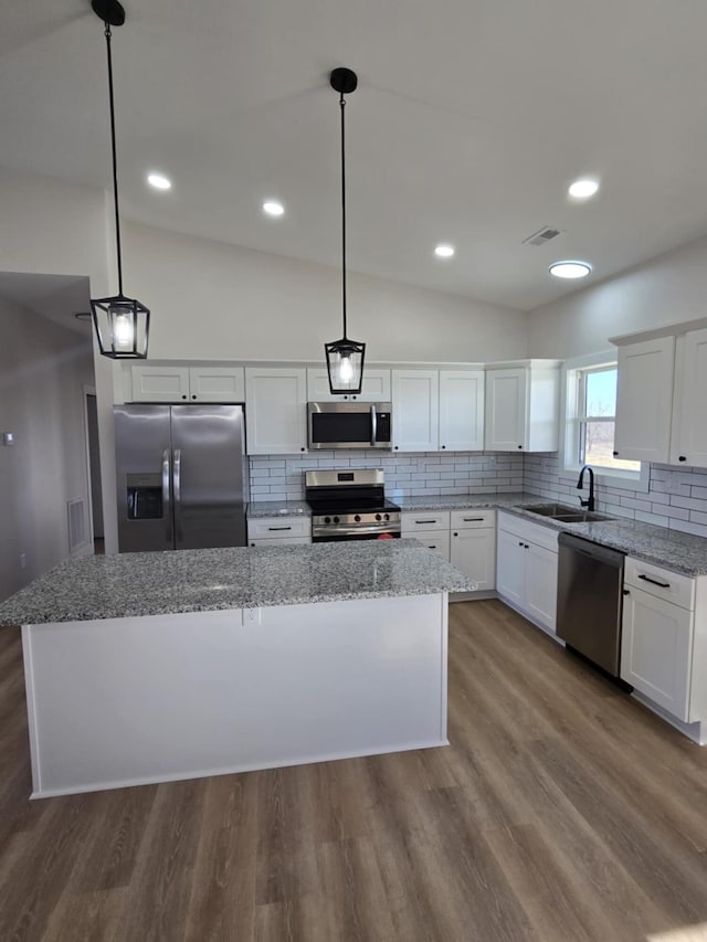
[[[418,540],[120,553],[54,567],[0,605],[0,626],[474,589]]]

